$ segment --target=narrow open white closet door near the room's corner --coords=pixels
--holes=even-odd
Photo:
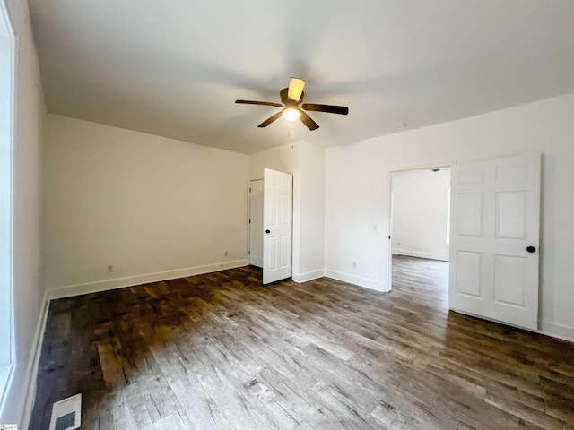
[[[269,168],[263,174],[263,283],[290,278],[293,176]]]

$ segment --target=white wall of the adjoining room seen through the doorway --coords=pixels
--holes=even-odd
[[[448,261],[450,169],[392,173],[393,254]]]

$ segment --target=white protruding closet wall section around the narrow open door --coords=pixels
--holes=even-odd
[[[249,179],[272,168],[293,175],[293,280],[323,276],[325,243],[325,150],[299,141],[249,157]]]

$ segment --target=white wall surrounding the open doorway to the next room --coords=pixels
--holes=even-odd
[[[572,118],[569,94],[327,149],[326,273],[387,288],[390,170],[543,152],[541,327],[574,340]]]

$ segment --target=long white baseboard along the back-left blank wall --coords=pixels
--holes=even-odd
[[[236,260],[234,262],[220,262],[207,264],[204,266],[187,267],[175,271],[158,271],[155,273],[146,273],[143,275],[127,276],[125,278],[116,278],[113,280],[97,280],[94,282],[85,282],[83,284],[68,285],[60,288],[48,289],[48,299],[81,296],[83,294],[97,293],[108,289],[133,287],[135,285],[147,284],[150,282],[159,282],[161,280],[175,280],[187,276],[202,275],[213,271],[223,271],[226,269],[235,269],[248,264],[247,260]]]

